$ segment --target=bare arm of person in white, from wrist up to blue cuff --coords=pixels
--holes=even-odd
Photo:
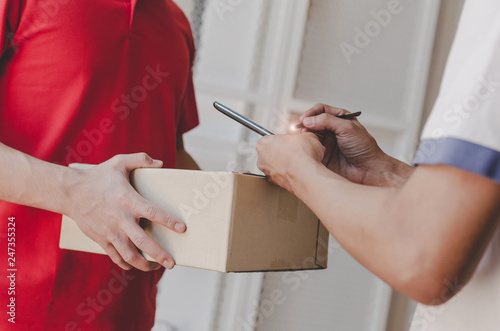
[[[403,187],[386,188],[351,183],[316,162],[293,169],[294,193],[337,241],[424,303],[442,296],[446,281],[467,282],[498,223],[498,184],[463,170],[423,167]]]

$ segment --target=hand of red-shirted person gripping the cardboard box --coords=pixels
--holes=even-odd
[[[182,233],[186,226],[177,217],[142,198],[130,185],[130,172],[136,168],[160,168],[162,162],[145,153],[117,155],[88,170],[74,170],[68,182],[66,215],[96,241],[123,269],[143,271],[160,268],[138,251],[147,253],[165,268],[173,258],[140,227],[141,218]]]

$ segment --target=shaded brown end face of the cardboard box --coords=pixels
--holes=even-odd
[[[228,270],[320,268],[319,222],[288,191],[263,178],[236,176],[232,218]]]

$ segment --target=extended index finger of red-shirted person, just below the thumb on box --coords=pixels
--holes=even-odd
[[[147,218],[151,222],[159,223],[177,233],[186,231],[186,225],[178,217],[154,203],[147,201],[139,194],[137,194],[136,199],[137,202],[135,206],[133,206],[132,211],[138,218]]]

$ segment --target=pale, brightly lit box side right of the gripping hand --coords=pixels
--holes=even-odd
[[[152,223],[148,233],[177,264],[225,271],[234,176],[170,169],[140,169],[132,185],[145,199],[181,218],[187,231]]]

